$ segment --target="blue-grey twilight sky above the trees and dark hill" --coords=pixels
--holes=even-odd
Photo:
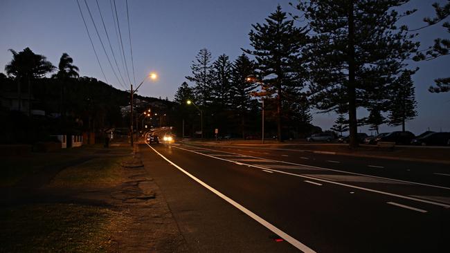
[[[242,53],[240,48],[249,48],[248,33],[251,24],[264,22],[264,18],[275,10],[278,3],[287,12],[296,12],[288,5],[289,1],[292,0],[129,0],[136,82],[141,82],[150,71],[159,74],[157,82],[146,82],[139,93],[152,97],[168,97],[172,100],[179,84],[185,81],[184,77],[190,75],[190,64],[199,49],[208,48],[213,57],[225,53],[234,60]],[[419,10],[403,22],[410,28],[423,26],[423,17],[433,16],[431,3],[435,1],[445,2],[411,0],[406,7]],[[96,1],[87,0],[87,3],[115,67]],[[98,3],[117,62],[122,67],[110,0],[98,0]],[[109,84],[124,89],[111,71],[84,0],[80,0],[80,5]],[[125,57],[133,80],[125,0],[116,0],[116,7]],[[74,64],[80,68],[80,75],[96,77],[105,82],[76,0],[2,0],[0,24],[3,24],[0,39],[0,71],[3,73],[4,66],[12,58],[8,48],[20,51],[29,47],[35,53],[45,55],[53,65],[57,65],[62,53],[68,53],[73,57]],[[418,39],[422,48],[426,48],[433,44],[436,37],[448,38],[449,34],[441,26],[433,26],[421,30]],[[450,93],[432,94],[427,91],[430,84],[433,84],[433,79],[450,75],[449,64],[450,56],[431,62],[411,62],[411,66],[420,67],[420,71],[413,77],[418,116],[406,124],[407,129],[413,133],[422,133],[428,128],[433,131],[450,131]],[[121,71],[123,69],[121,68]],[[365,116],[366,112],[360,111],[359,114]],[[336,119],[333,113],[314,114],[313,117],[313,123],[323,130],[329,129]],[[397,129],[399,127],[381,126],[381,131]],[[370,133],[367,128],[361,130]]]

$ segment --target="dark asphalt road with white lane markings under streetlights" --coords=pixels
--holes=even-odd
[[[195,252],[450,248],[448,165],[188,143],[141,152]]]

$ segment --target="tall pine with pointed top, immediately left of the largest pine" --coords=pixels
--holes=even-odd
[[[303,88],[303,76],[299,74],[302,59],[300,49],[306,44],[305,28],[297,28],[287,20],[286,12],[278,6],[264,24],[252,25],[249,33],[253,50],[244,50],[256,59],[256,70],[267,92],[276,98],[278,140],[282,141],[282,104],[287,88],[299,91]]]

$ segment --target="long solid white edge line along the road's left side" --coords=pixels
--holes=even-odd
[[[198,182],[200,185],[202,185],[206,189],[208,189],[210,191],[213,191],[214,194],[216,194],[217,196],[219,196],[220,198],[222,198],[226,202],[230,203],[231,205],[233,205],[237,209],[240,209],[241,212],[243,212],[244,214],[250,216],[251,218],[253,218],[253,220],[258,221],[258,223],[260,223],[264,227],[267,227],[267,229],[269,229],[271,232],[277,234],[281,238],[285,239],[285,241],[287,241],[288,243],[291,243],[291,245],[293,245],[294,247],[298,248],[298,250],[301,250],[301,251],[303,251],[305,253],[306,252],[307,253],[315,253],[315,251],[310,249],[309,247],[307,247],[307,245],[305,245],[303,243],[300,243],[300,241],[297,241],[294,237],[289,236],[289,234],[286,234],[285,232],[283,232],[278,227],[275,227],[271,223],[265,221],[263,218],[261,218],[260,216],[256,215],[255,213],[251,212],[249,209],[246,209],[245,207],[243,207],[242,205],[237,203],[235,200],[232,200],[231,198],[228,198],[227,196],[222,194],[222,192],[217,191],[217,189],[214,189],[213,187],[210,187],[209,185],[206,184],[206,182],[203,182],[203,181],[199,180],[199,178],[196,178],[195,176],[192,176],[192,174],[190,174],[188,171],[186,171],[185,169],[183,169],[183,168],[179,167],[178,165],[174,164],[174,162],[172,162],[168,158],[165,158],[165,156],[163,156],[161,153],[156,151],[156,149],[154,149],[152,146],[148,145],[148,147],[150,147],[150,149],[153,149],[153,151],[155,151],[155,153],[157,153],[159,156],[161,156],[161,158],[163,158],[164,160],[168,161],[175,168],[179,169],[181,172],[183,172],[184,174],[186,174],[187,176],[189,176],[190,178],[192,178],[193,180]],[[197,152],[195,152],[195,153],[197,153]],[[208,156],[208,155],[206,155],[206,156]],[[222,159],[222,158],[219,158],[219,159]]]

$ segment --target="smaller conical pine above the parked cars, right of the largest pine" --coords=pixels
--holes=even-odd
[[[402,126],[405,131],[406,120],[412,120],[417,116],[417,102],[415,102],[414,83],[411,80],[411,71],[404,71],[391,88],[391,104],[389,112],[389,124]]]

